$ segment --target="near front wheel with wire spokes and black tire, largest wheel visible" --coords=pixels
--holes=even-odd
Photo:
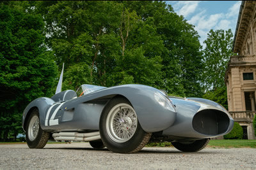
[[[116,111],[116,115],[120,113],[120,115],[124,114],[125,117],[120,118],[118,120],[119,124],[114,127],[114,123],[111,124],[111,121],[108,120],[111,120],[111,118],[109,117],[113,115],[113,110],[118,107],[120,108],[119,111]],[[128,109],[125,107],[127,107]],[[113,117],[115,118],[115,116]],[[113,122],[115,122],[115,120],[113,120]],[[130,124],[131,127],[129,127]],[[131,130],[132,135],[128,138],[119,138],[118,132],[114,132],[115,130],[110,130],[112,134],[111,132],[109,132],[109,127],[112,127],[112,129],[118,129],[118,132],[121,132],[122,134],[125,134],[125,131],[128,132]],[[108,105],[104,108],[102,112],[102,115],[100,117],[100,137],[104,145],[112,152],[135,153],[140,151],[145,145],[147,145],[151,137],[151,133],[143,131],[131,103],[123,97],[116,97],[109,101]]]

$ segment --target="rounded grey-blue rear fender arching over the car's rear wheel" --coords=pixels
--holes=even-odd
[[[54,104],[54,101],[48,97],[40,97],[38,99],[35,99],[31,101],[31,103],[28,104],[28,106],[25,108],[23,111],[22,115],[22,128],[25,131],[26,129],[26,120],[28,120],[28,117],[31,113],[31,111],[36,108],[39,111],[39,120],[40,120],[40,125],[42,129],[44,129],[44,124],[45,124],[45,113],[47,108],[52,106]]]

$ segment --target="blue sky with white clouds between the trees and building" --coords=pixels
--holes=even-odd
[[[204,45],[207,33],[213,29],[231,29],[236,32],[241,1],[166,1],[178,15],[183,15],[189,24],[195,25]]]

